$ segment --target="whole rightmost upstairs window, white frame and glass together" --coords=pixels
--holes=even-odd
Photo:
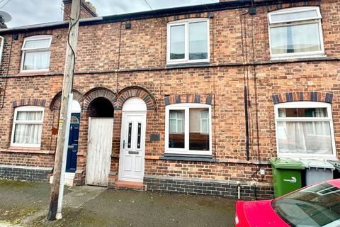
[[[319,7],[305,6],[268,13],[271,57],[324,55]]]

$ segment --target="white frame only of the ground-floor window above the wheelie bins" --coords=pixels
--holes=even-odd
[[[335,137],[334,137],[334,126],[333,126],[333,118],[331,114],[331,104],[324,102],[314,102],[314,101],[292,101],[286,102],[282,104],[276,104],[275,108],[275,129],[276,129],[276,150],[278,157],[295,157],[295,158],[313,158],[313,159],[325,159],[325,158],[336,158],[336,146],[335,146]],[[327,108],[327,117],[279,117],[278,109],[280,108]],[[331,154],[304,154],[304,153],[280,153],[278,149],[278,122],[287,122],[287,121],[328,121],[329,128],[331,133]]]

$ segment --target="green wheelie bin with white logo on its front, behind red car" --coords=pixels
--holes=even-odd
[[[302,172],[305,165],[299,161],[271,157],[274,196],[277,198],[302,187]]]

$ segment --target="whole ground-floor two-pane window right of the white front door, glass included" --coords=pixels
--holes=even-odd
[[[165,111],[166,154],[212,154],[210,105],[173,104]]]

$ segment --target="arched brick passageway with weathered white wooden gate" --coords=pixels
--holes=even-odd
[[[113,103],[115,94],[106,88],[86,93],[84,108],[88,113],[86,184],[108,186],[113,139]]]

